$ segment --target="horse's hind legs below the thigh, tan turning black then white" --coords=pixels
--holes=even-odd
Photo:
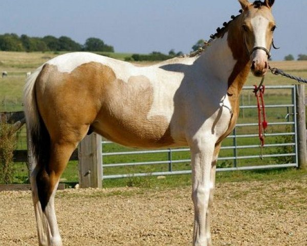
[[[32,172],[32,196],[37,221],[39,245],[61,246],[54,197],[58,182],[77,142],[51,142],[50,160]]]

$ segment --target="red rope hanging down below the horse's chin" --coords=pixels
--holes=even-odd
[[[263,85],[265,77],[262,77],[259,86],[254,85],[254,93],[257,98],[257,108],[258,108],[258,135],[260,140],[260,159],[263,160],[263,147],[265,145],[265,131],[268,127],[268,122],[266,120],[266,106],[265,106],[265,86]],[[261,106],[260,106],[261,101]],[[262,114],[261,114],[262,110]]]

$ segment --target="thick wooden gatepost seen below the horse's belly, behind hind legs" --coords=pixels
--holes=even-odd
[[[79,187],[102,187],[101,136],[92,133],[86,136],[78,146]]]

